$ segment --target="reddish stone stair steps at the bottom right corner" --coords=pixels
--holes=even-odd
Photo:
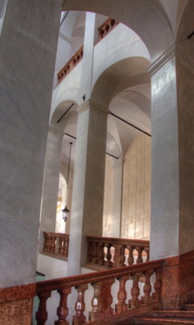
[[[146,315],[134,317],[119,325],[165,325],[165,324],[194,324],[194,304],[186,304],[184,311],[151,311]]]

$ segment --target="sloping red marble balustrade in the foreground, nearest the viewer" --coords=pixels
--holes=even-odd
[[[56,325],[114,324],[115,321],[124,321],[139,313],[161,308],[163,263],[164,260],[151,261],[119,269],[109,269],[105,272],[37,282],[36,295],[40,299],[38,311],[36,312],[37,325],[45,325],[45,322],[47,322],[47,299],[51,296],[51,291],[56,290],[59,293]],[[139,287],[142,276],[145,277],[145,284],[143,296],[141,297]],[[155,276],[155,282],[154,280],[150,281],[151,276]],[[115,280],[119,280],[118,290],[116,289],[117,286],[112,290],[112,284]],[[128,286],[126,286],[127,282]],[[151,283],[154,284],[151,285]],[[84,293],[88,291],[89,284],[92,286],[90,286],[90,290],[93,289],[93,298],[91,298],[90,307],[86,311]],[[143,282],[141,282],[141,285],[143,285]],[[73,287],[77,289],[77,301],[75,301],[74,315],[69,315],[67,320],[69,313],[67,298],[71,295]],[[128,287],[128,290],[126,287]],[[115,306],[112,306],[113,295],[117,296],[118,299]],[[128,298],[130,299],[127,302]],[[69,319],[72,320],[69,322]]]

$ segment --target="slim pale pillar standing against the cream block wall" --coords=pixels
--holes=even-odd
[[[111,237],[121,237],[121,203],[122,203],[122,182],[123,162],[120,158],[113,167],[113,196],[112,196],[112,230]]]

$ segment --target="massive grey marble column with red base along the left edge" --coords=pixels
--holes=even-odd
[[[2,324],[31,324],[60,10],[59,0],[8,0],[1,31]]]

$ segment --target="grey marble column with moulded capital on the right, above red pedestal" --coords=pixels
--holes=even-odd
[[[173,45],[151,71],[151,259],[193,250],[194,62]]]

